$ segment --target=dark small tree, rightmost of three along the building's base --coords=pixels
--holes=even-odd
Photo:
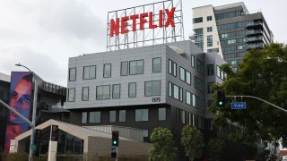
[[[225,142],[219,138],[213,138],[208,141],[207,150],[208,150],[208,160],[220,160],[222,156],[223,148]]]

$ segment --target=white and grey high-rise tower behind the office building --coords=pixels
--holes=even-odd
[[[193,8],[191,37],[204,52],[222,55],[234,71],[242,63],[249,48],[263,47],[273,42],[263,13],[248,12],[244,3]]]

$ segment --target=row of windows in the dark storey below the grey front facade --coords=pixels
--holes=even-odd
[[[130,116],[130,115],[129,115]],[[166,121],[166,107],[158,108],[158,121]],[[135,122],[149,121],[149,109],[135,109]],[[109,123],[126,122],[126,110],[111,110],[109,111]],[[101,123],[101,112],[83,112],[82,123]]]

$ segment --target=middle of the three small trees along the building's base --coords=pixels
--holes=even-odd
[[[186,155],[192,161],[194,158],[201,157],[204,148],[204,137],[196,127],[188,124],[181,131],[181,144],[185,148]]]

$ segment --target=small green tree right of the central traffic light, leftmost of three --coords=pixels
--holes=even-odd
[[[152,131],[151,141],[149,160],[171,161],[177,156],[178,148],[174,147],[172,133],[167,128],[155,128]]]

